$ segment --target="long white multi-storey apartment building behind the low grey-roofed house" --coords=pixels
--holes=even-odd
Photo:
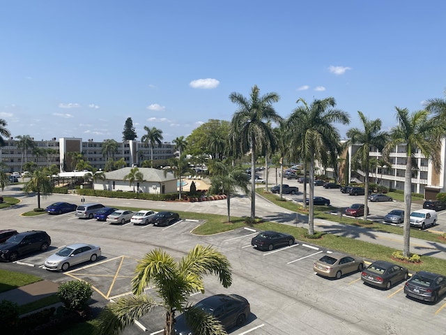
[[[33,139],[34,140],[34,139]],[[38,168],[58,165],[60,171],[72,171],[74,167],[71,164],[69,152],[80,152],[84,155],[86,161],[89,161],[93,168],[104,169],[107,158],[102,154],[102,144],[104,142],[95,142],[93,139],[86,141],[80,137],[62,137],[51,140],[34,140],[36,147],[41,149],[27,152],[17,147],[18,140],[13,137],[5,139],[5,146],[0,147],[0,161],[5,163],[7,172],[22,172],[23,165],[26,162],[36,163]],[[40,152],[40,154],[38,154]],[[166,160],[174,157],[174,145],[164,142],[160,146],[153,148],[153,159]],[[118,151],[114,154],[114,160],[124,158],[128,166],[140,165],[141,162],[151,159],[151,148],[144,147],[144,143],[137,141],[118,142]],[[65,167],[65,169],[64,169]]]

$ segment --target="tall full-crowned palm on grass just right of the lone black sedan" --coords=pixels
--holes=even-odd
[[[336,161],[341,151],[340,135],[333,124],[349,124],[350,118],[343,110],[334,108],[336,101],[332,97],[316,99],[311,105],[302,98],[296,103],[300,102],[303,106],[293,110],[288,126],[294,133],[293,145],[300,148],[304,163],[309,162],[308,233],[312,235],[314,234],[314,161],[318,160],[322,165],[328,161]]]

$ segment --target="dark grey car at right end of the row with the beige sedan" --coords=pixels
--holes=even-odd
[[[408,297],[435,303],[446,293],[446,278],[441,274],[419,271],[406,281],[404,293]]]

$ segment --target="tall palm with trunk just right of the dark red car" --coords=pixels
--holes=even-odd
[[[359,110],[357,114],[362,122],[363,129],[351,128],[346,135],[350,138],[348,145],[357,144],[359,147],[353,154],[353,161],[358,161],[364,170],[364,220],[367,220],[367,202],[369,200],[369,170],[370,170],[370,147],[376,147],[379,151],[383,150],[388,140],[387,133],[381,131],[381,120],[369,120]]]

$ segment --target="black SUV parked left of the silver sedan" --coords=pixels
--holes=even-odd
[[[35,251],[47,251],[51,238],[43,230],[20,232],[0,244],[0,258],[14,262],[19,256]]]

